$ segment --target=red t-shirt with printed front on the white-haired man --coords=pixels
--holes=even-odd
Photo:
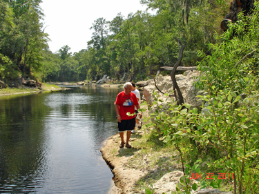
[[[128,116],[126,115],[128,112],[135,113],[135,108],[138,103],[137,97],[134,93],[130,93],[129,95],[126,95],[124,91],[119,93],[117,95],[115,104],[119,105],[119,115],[122,118],[122,120],[128,120],[128,119],[133,119],[136,117],[134,116]]]

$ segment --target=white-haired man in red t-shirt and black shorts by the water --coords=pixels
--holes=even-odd
[[[116,101],[115,101],[115,111],[117,113],[117,122],[118,122],[118,128],[119,128],[119,136],[122,139],[121,144],[119,145],[119,148],[124,147],[124,131],[126,130],[126,148],[131,148],[131,145],[128,144],[129,139],[131,138],[131,130],[135,127],[135,117],[128,116],[127,113],[130,114],[135,113],[135,106],[137,109],[140,108],[140,104],[137,101],[137,97],[134,93],[131,93],[132,90],[132,84],[130,82],[126,82],[124,84],[124,91],[119,93],[117,95]],[[128,103],[128,101],[131,101],[131,103]],[[126,103],[127,102],[127,103]]]

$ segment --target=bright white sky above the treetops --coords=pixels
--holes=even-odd
[[[72,53],[87,48],[93,33],[90,27],[96,19],[111,21],[119,12],[126,18],[130,12],[146,10],[140,0],[43,0],[40,6],[45,14],[44,32],[51,39],[50,50],[57,52],[68,45]]]

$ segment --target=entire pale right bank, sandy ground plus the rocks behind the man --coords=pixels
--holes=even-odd
[[[191,107],[200,108],[200,101],[197,100],[196,96],[203,93],[193,87],[193,77],[197,74],[198,72],[191,72],[185,75],[177,75],[176,79],[186,103],[191,104]],[[173,88],[170,76],[157,77],[156,84],[157,88],[160,88],[164,93],[170,93],[171,88]],[[143,95],[148,103],[153,103],[152,94],[154,90],[160,95],[161,101],[159,101],[159,105],[166,102],[170,103],[171,99],[159,93],[153,80],[148,80],[143,85],[146,85]],[[102,156],[114,175],[109,194],[171,193],[171,191],[176,191],[176,184],[180,182],[180,177],[183,176],[179,152],[175,146],[164,143],[161,136],[153,133],[151,125],[145,125],[152,123],[148,119],[150,113],[143,104],[141,108],[145,110],[142,113],[144,115],[142,119],[143,126],[136,134],[131,135],[130,144],[132,148],[119,148],[121,141],[119,134],[107,139],[101,148]],[[153,109],[151,111],[154,113]],[[124,136],[124,139],[126,139],[126,133]],[[201,168],[201,171],[206,171],[204,166],[201,166]],[[191,185],[194,182],[195,180],[192,180]],[[229,188],[226,186],[223,189],[227,190]],[[232,192],[222,192],[211,188],[200,189],[198,187],[197,191],[191,191],[191,193],[230,194]]]

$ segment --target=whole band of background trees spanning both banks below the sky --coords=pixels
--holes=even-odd
[[[105,74],[121,79],[125,72],[131,80],[143,80],[161,66],[175,64],[179,52],[175,37],[186,46],[182,63],[194,66],[200,60],[197,50],[207,51],[206,43],[214,42],[213,31],[218,31],[215,17],[221,17],[216,14],[218,2],[211,7],[205,1],[145,1],[157,8],[157,14],[137,11],[126,18],[119,13],[112,21],[95,19],[86,50],[72,55],[69,46],[63,46],[53,54],[48,52],[40,2],[1,1],[0,53],[12,61],[13,71],[43,81],[100,79]]]

